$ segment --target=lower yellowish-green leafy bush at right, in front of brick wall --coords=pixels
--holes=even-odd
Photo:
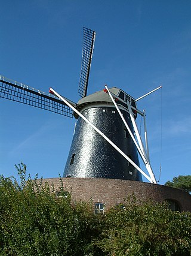
[[[165,203],[129,198],[106,213],[104,224],[94,245],[106,255],[191,255],[191,215]]]

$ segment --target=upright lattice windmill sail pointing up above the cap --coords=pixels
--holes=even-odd
[[[80,74],[79,87],[78,87],[78,93],[82,98],[87,96],[88,79],[90,75],[90,66],[91,66],[91,59],[93,56],[95,39],[96,39],[96,32],[91,29],[84,28],[82,65],[81,65],[81,74]]]

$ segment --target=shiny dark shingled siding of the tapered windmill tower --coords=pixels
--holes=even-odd
[[[134,134],[129,113],[121,112]],[[81,113],[139,166],[137,149],[115,107],[89,106]],[[142,180],[134,166],[82,118],[76,125],[63,177]]]

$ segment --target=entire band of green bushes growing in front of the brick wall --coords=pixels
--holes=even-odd
[[[92,202],[73,202],[60,179],[54,186],[0,176],[0,255],[191,255],[191,214],[166,204],[127,198],[94,215]]]

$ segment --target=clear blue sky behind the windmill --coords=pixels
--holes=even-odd
[[[190,1],[0,4],[0,74],[77,102],[82,27],[94,29],[88,94],[107,84],[138,98],[162,85],[138,101],[146,110],[151,164],[156,179],[162,164],[161,184],[191,173]],[[74,125],[75,119],[0,99],[1,174],[16,175],[14,164],[23,161],[32,177],[62,175]]]

